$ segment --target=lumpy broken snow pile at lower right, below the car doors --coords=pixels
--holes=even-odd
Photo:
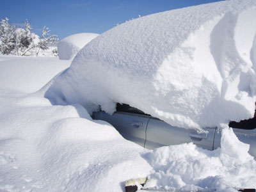
[[[232,129],[223,129],[221,148],[214,151],[193,143],[161,147],[145,154],[154,168],[145,188],[169,191],[237,191],[256,188],[256,161]]]

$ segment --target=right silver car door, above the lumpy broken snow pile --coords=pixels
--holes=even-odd
[[[207,133],[198,133],[166,124],[157,118],[150,118],[146,132],[145,148],[157,148],[164,145],[179,145],[181,143],[195,143],[198,147],[213,149],[216,128],[207,128]]]

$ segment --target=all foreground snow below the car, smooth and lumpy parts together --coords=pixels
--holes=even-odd
[[[0,122],[1,191],[124,191],[125,180],[147,176],[155,191],[256,188],[256,161],[232,129],[214,151],[192,143],[146,150],[79,104],[8,90]]]

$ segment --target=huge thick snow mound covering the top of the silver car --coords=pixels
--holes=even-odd
[[[89,113],[130,104],[199,131],[251,118],[255,18],[255,0],[234,0],[131,20],[87,44],[45,96]]]

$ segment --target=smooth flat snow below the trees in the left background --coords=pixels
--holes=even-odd
[[[0,56],[0,89],[36,92],[52,77],[70,66],[58,58]]]

